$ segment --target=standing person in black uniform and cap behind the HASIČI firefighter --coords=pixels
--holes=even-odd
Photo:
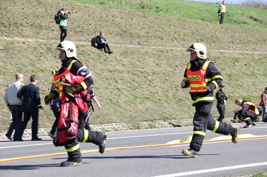
[[[220,84],[219,86],[219,91],[216,93],[216,99],[217,99],[217,109],[218,112],[220,114],[219,118],[217,119],[217,121],[222,122],[222,119],[224,119],[224,115],[225,115],[225,103],[226,100],[228,99],[228,95],[224,94],[224,85]]]

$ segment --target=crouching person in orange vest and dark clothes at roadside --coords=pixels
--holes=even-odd
[[[235,109],[233,112],[238,114],[238,119],[246,123],[244,128],[251,128],[252,126],[255,126],[256,124],[254,121],[258,120],[260,115],[257,106],[250,101],[242,100],[240,98],[236,99],[235,103],[239,106],[242,106],[241,110]]]

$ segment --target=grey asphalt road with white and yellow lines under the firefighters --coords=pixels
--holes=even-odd
[[[238,123],[240,127],[244,123]],[[197,158],[184,156],[193,127],[107,132],[106,150],[80,143],[83,162],[60,167],[64,147],[42,141],[0,141],[0,175],[5,176],[244,176],[267,171],[267,124],[240,128],[237,144],[207,131]],[[216,139],[215,139],[216,138]],[[177,142],[181,142],[177,144]],[[176,143],[169,144],[166,143]]]

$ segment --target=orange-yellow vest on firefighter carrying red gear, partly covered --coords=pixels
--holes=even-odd
[[[57,88],[59,88],[59,98],[60,100],[62,100],[62,93],[63,93],[63,84],[61,84],[60,82],[64,82],[65,81],[65,75],[69,72],[69,70],[72,67],[72,64],[77,61],[77,60],[71,60],[71,62],[69,63],[68,67],[66,68],[66,70],[59,74],[59,75],[55,75],[53,78],[53,82],[52,85],[56,86]]]

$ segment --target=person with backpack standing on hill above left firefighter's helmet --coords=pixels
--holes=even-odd
[[[65,9],[65,8],[60,9],[60,11],[58,12],[58,16],[60,19],[60,30],[61,30],[60,42],[64,41],[64,39],[68,35],[68,32],[67,32],[68,14],[70,14],[70,12],[68,12],[67,9]]]

